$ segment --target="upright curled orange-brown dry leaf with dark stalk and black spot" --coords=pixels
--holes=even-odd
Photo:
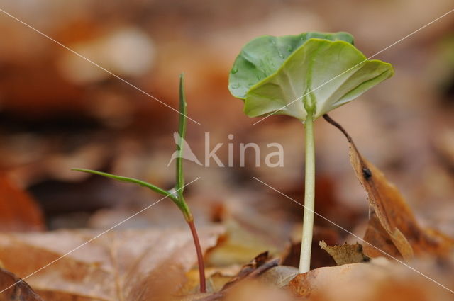
[[[323,117],[347,137],[350,143],[350,163],[365,188],[370,207],[375,213],[367,228],[365,241],[377,249],[365,244],[365,254],[383,256],[383,252],[378,250],[380,249],[388,250],[389,255],[400,255],[404,259],[424,254],[447,256],[454,247],[454,240],[435,230],[423,229],[397,187],[389,183],[382,171],[362,157],[341,125],[328,115]]]

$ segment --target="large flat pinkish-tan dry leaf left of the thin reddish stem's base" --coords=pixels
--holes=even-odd
[[[214,246],[222,232],[201,229],[202,248]],[[0,234],[0,259],[25,278],[99,233]],[[48,301],[163,301],[171,300],[194,263],[189,230],[131,229],[108,232],[26,280]]]

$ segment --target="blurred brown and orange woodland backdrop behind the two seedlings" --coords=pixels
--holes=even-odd
[[[0,8],[0,229],[111,227],[160,198],[72,167],[165,188],[175,183],[175,166],[167,164],[177,113],[69,47],[172,108],[184,72],[188,115],[201,124],[188,120],[192,150],[204,157],[209,132],[211,149],[223,143],[218,157],[226,164],[232,143],[236,162],[221,168],[185,161],[187,181],[201,177],[187,187],[189,205],[199,225],[228,220],[248,229],[238,237],[261,239],[245,247],[255,256],[257,245],[279,249],[301,226],[302,208],[253,176],[302,202],[304,129],[286,116],[253,125],[258,119],[243,115],[243,103],[227,89],[240,48],[258,35],[347,31],[368,57],[453,2],[0,0]],[[331,117],[401,189],[423,225],[454,235],[454,13],[375,58],[392,63],[395,76]],[[248,142],[262,146],[262,163],[266,144],[282,144],[284,166],[256,168],[250,155],[240,167],[239,144]],[[345,138],[323,119],[316,122],[316,158],[316,211],[362,234],[365,192]],[[184,220],[165,200],[121,227],[175,225]],[[328,227],[323,220],[317,225],[321,232]],[[348,239],[330,231],[333,242]]]

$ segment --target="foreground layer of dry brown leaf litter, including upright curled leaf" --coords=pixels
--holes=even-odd
[[[215,260],[207,268],[210,292],[194,293],[196,281],[190,283],[190,274],[194,271],[191,268],[195,254],[187,231],[148,229],[108,233],[26,278],[99,232],[4,233],[0,234],[0,259],[4,268],[16,275],[6,272],[10,275],[6,285],[11,279],[26,278],[15,290],[23,298],[18,300],[28,300],[26,297],[33,295],[33,290],[50,301],[452,300],[449,290],[454,285],[454,260],[450,253],[453,239],[421,227],[397,188],[362,157],[350,136],[346,136],[350,162],[372,210],[364,237],[372,246],[367,243],[328,246],[320,242],[338,266],[298,274],[296,268],[278,265],[275,255],[279,257],[279,252],[274,257],[260,254],[242,268],[233,263],[235,260],[227,266],[216,266]],[[203,229],[204,251],[209,248],[216,251],[221,235],[222,227]],[[433,281],[387,259],[377,249],[404,260]],[[223,252],[228,254],[228,249]],[[2,279],[4,284],[4,274]],[[0,296],[11,297],[6,295],[9,291]]]

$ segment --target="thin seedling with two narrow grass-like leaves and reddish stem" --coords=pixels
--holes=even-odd
[[[146,188],[150,188],[155,193],[160,193],[161,195],[170,198],[182,211],[184,215],[184,219],[186,220],[187,224],[189,225],[189,229],[191,229],[192,238],[194,239],[194,245],[196,247],[196,254],[197,260],[199,263],[199,276],[200,276],[200,291],[201,293],[206,292],[206,280],[205,280],[205,267],[204,267],[204,257],[201,252],[201,246],[199,242],[199,235],[197,234],[196,227],[194,225],[194,217],[192,216],[191,210],[189,210],[189,206],[187,205],[186,201],[184,200],[184,173],[183,173],[183,146],[184,146],[184,137],[186,136],[186,125],[187,125],[187,115],[186,115],[186,97],[184,96],[184,81],[183,81],[183,74],[179,77],[179,126],[178,126],[178,134],[179,140],[177,140],[177,156],[175,158],[176,162],[176,180],[175,180],[175,188],[170,191],[167,191],[163,188],[159,188],[153,184],[150,184],[145,181],[138,180],[136,178],[128,178],[125,176],[116,176],[114,174],[107,174],[101,171],[94,171],[91,169],[72,169],[74,171],[82,171],[89,174],[96,174],[99,176],[106,176],[107,178],[113,178],[117,181],[128,182],[128,183],[135,183],[139,186],[143,186]]]

